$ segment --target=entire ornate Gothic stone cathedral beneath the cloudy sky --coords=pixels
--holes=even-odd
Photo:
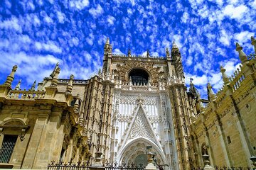
[[[256,49],[256,40],[252,38]],[[223,88],[201,99],[187,90],[181,53],[174,43],[166,56],[112,54],[107,39],[103,67],[87,80],[49,77],[11,89],[17,66],[0,85],[1,166],[45,169],[57,162],[146,165],[146,147],[164,169],[252,166],[256,155],[256,60],[236,45],[241,67],[223,74]],[[256,53],[256,52],[255,52]],[[203,104],[204,103],[204,104]]]

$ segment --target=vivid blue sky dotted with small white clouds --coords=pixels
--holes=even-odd
[[[220,64],[230,76],[240,63],[235,42],[247,55],[256,33],[256,1],[0,1],[0,84],[14,64],[13,86],[42,81],[60,62],[60,78],[87,79],[102,67],[104,43],[113,51],[165,55],[181,50],[186,84],[193,77],[202,96],[210,82],[222,86]]]

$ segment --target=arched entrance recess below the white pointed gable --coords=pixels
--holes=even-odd
[[[156,154],[157,164],[166,164],[164,152],[157,145],[145,137],[138,137],[127,142],[121,152],[117,155],[117,162],[124,164],[147,164],[146,147],[152,146],[151,152]]]

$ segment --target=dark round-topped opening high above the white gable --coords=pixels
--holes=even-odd
[[[147,84],[149,74],[144,69],[132,69],[129,73],[129,78],[132,79],[132,84]]]

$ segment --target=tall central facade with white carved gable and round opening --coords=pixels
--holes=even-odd
[[[146,147],[151,146],[157,164],[164,165],[164,169],[178,169],[180,160],[169,96],[170,89],[176,86],[182,91],[186,88],[181,76],[183,69],[176,68],[181,64],[178,50],[174,49],[173,59],[169,53],[166,57],[150,56],[149,52],[146,56],[133,56],[130,51],[128,56],[112,55],[107,43],[102,77],[111,75],[115,81],[109,161],[146,164]],[[183,169],[188,167],[186,164]]]

